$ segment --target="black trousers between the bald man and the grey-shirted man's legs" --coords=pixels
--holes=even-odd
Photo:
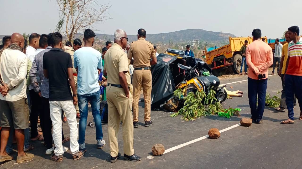
[[[42,103],[41,98],[34,91],[34,89],[29,90],[29,94],[31,96],[31,138],[37,137],[38,135],[38,115],[42,111]],[[41,127],[43,125],[43,121],[40,120]]]

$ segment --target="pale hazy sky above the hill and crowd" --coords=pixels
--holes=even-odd
[[[236,36],[251,36],[255,28],[268,38],[281,37],[288,27],[302,32],[302,0],[98,0],[109,3],[104,23],[94,25],[96,33],[113,34],[124,29],[136,35],[183,29],[222,31]],[[13,32],[49,33],[55,30],[59,11],[55,0],[0,0],[0,35]],[[298,16],[298,17],[295,17]],[[300,33],[302,34],[302,33]]]

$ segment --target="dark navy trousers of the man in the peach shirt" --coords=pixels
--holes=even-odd
[[[247,78],[247,86],[249,90],[249,107],[251,108],[252,119],[256,122],[261,121],[265,108],[265,95],[267,88],[267,78],[256,80]],[[258,94],[258,108],[257,108]]]

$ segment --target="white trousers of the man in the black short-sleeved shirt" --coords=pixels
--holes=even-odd
[[[53,123],[53,142],[56,149],[56,155],[63,155],[62,146],[62,110],[66,113],[68,126],[70,130],[70,151],[72,154],[79,152],[78,143],[78,124],[76,121],[76,109],[72,100],[68,101],[49,101],[50,118]]]

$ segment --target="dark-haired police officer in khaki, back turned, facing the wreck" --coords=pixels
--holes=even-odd
[[[128,59],[133,62],[133,126],[138,127],[138,101],[140,98],[140,90],[143,87],[145,100],[145,126],[149,127],[153,124],[150,118],[151,114],[151,89],[152,75],[151,65],[156,64],[155,50],[151,42],[146,41],[146,30],[139,29],[137,31],[137,41],[132,42],[128,53]],[[133,58],[133,61],[132,61]],[[150,61],[150,59],[152,60]]]

